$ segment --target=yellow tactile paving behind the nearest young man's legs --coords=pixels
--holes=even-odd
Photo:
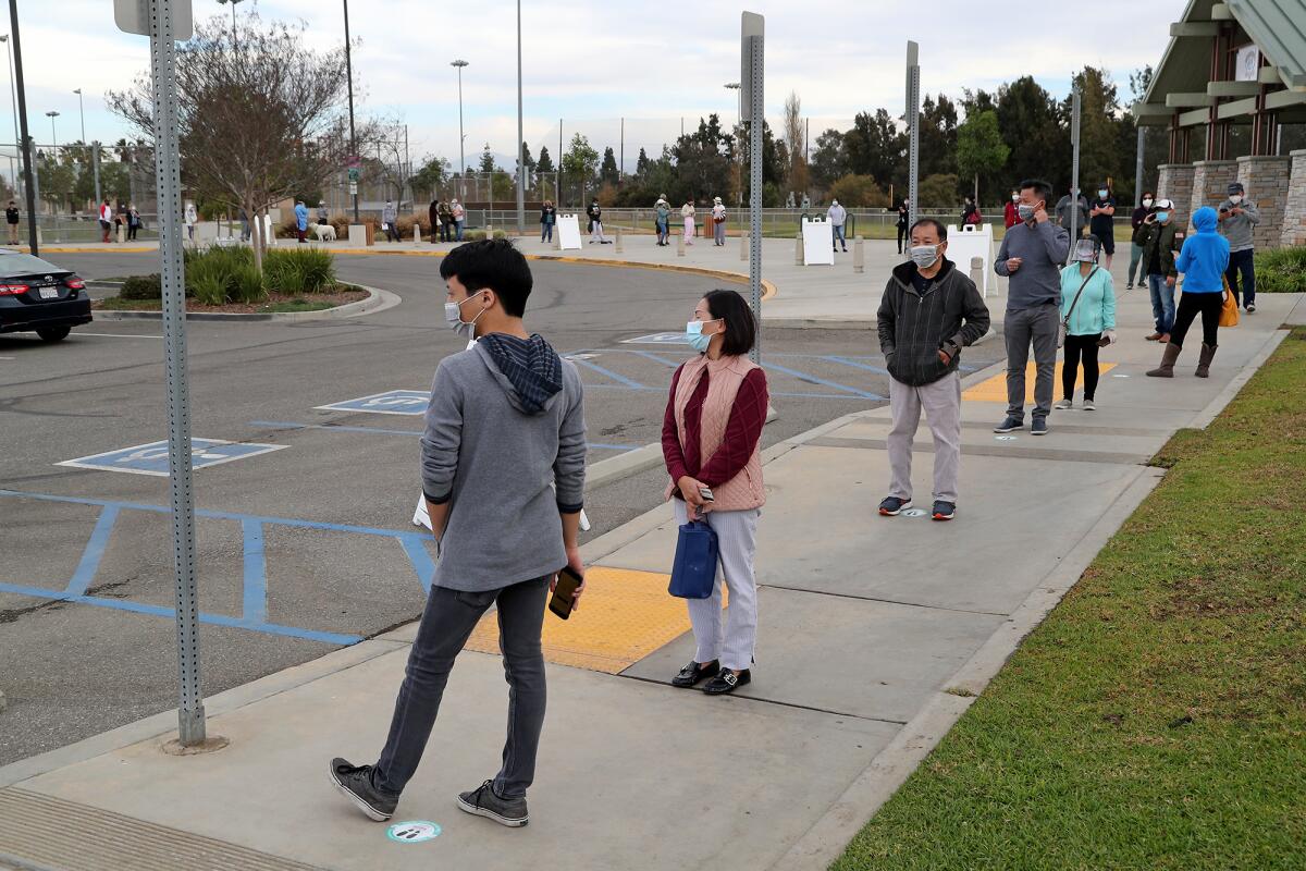
[[[669,575],[590,567],[580,610],[569,620],[545,612],[545,659],[620,674],[690,629],[684,601],[666,592]],[[468,650],[499,653],[499,618],[482,618]]]

